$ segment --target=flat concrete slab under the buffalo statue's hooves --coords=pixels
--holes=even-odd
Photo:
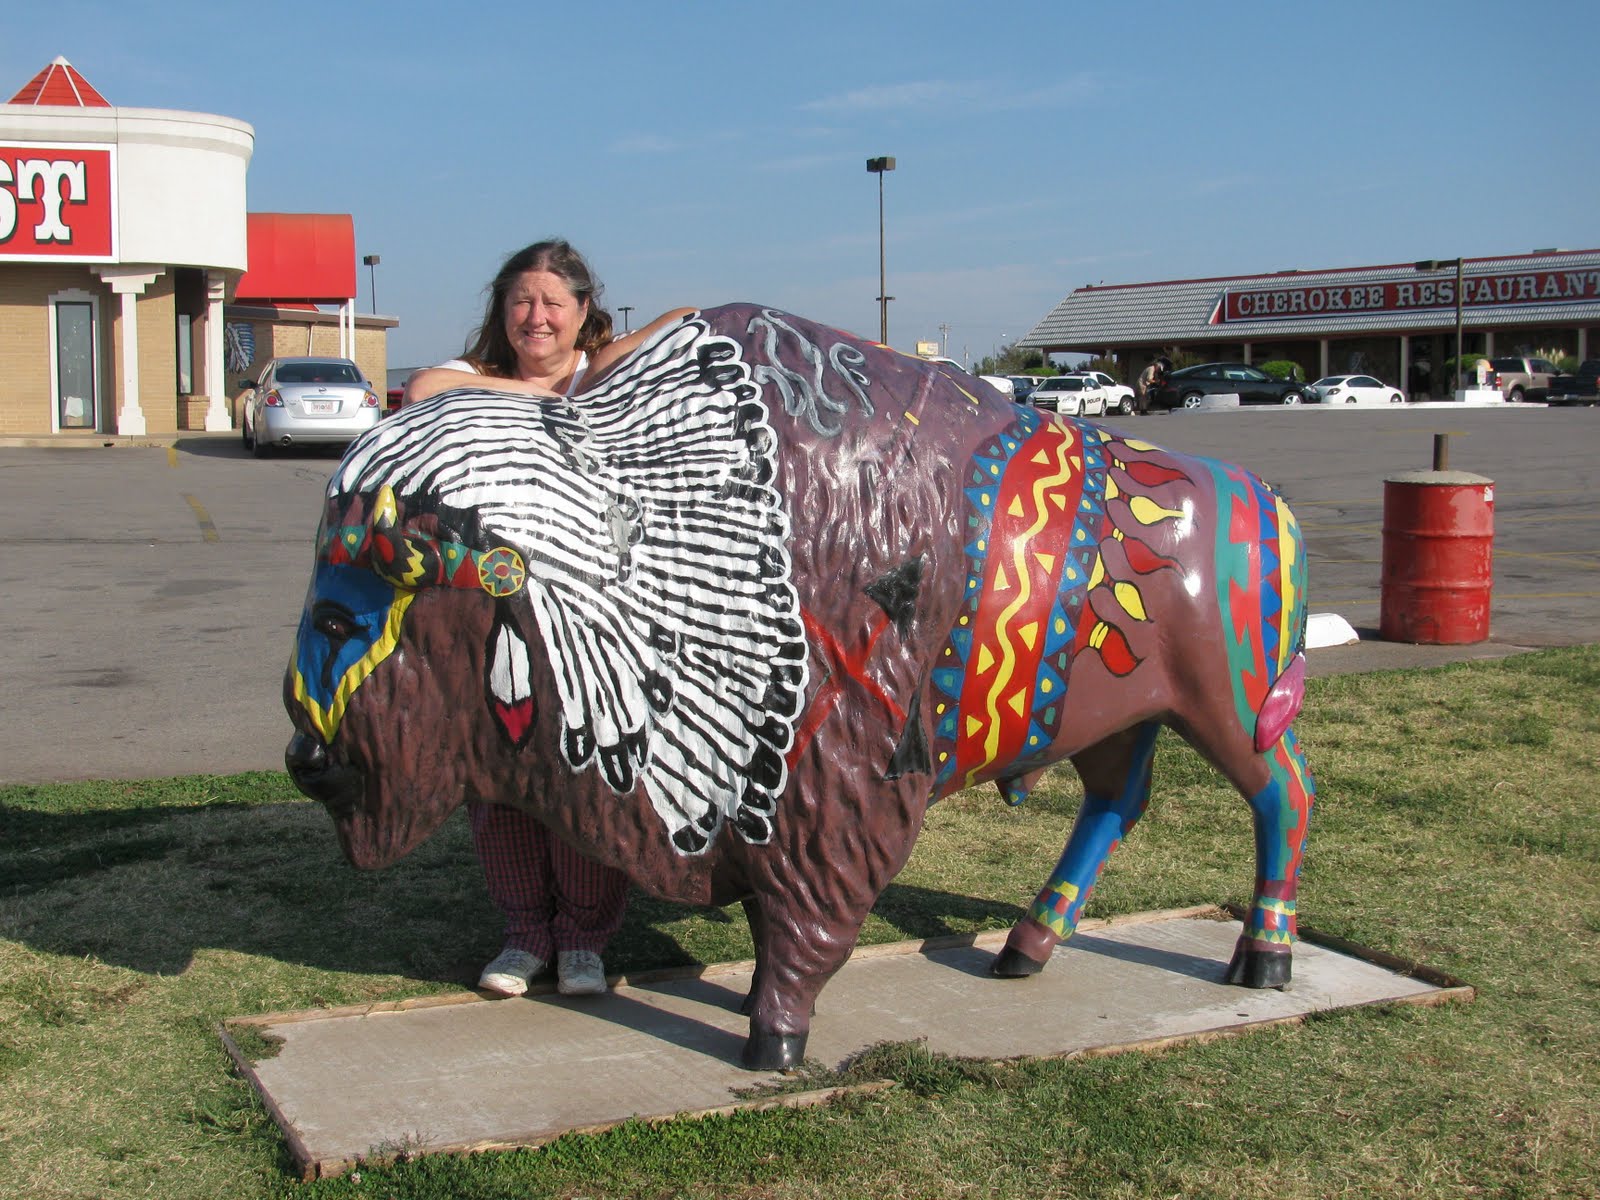
[[[1427,968],[1309,939],[1290,987],[1229,987],[1221,979],[1238,931],[1214,909],[1085,922],[1032,979],[989,974],[1005,931],[864,947],[822,992],[808,1051],[829,1067],[878,1042],[918,1038],[986,1059],[1107,1053],[1331,1008],[1470,995]],[[738,1066],[749,982],[749,963],[728,963],[622,979],[605,997],[470,994],[242,1018],[224,1040],[315,1178],[397,1154],[536,1146],[630,1117],[771,1104],[741,1094],[779,1078]],[[230,1035],[245,1027],[282,1038],[277,1056],[250,1062]]]

